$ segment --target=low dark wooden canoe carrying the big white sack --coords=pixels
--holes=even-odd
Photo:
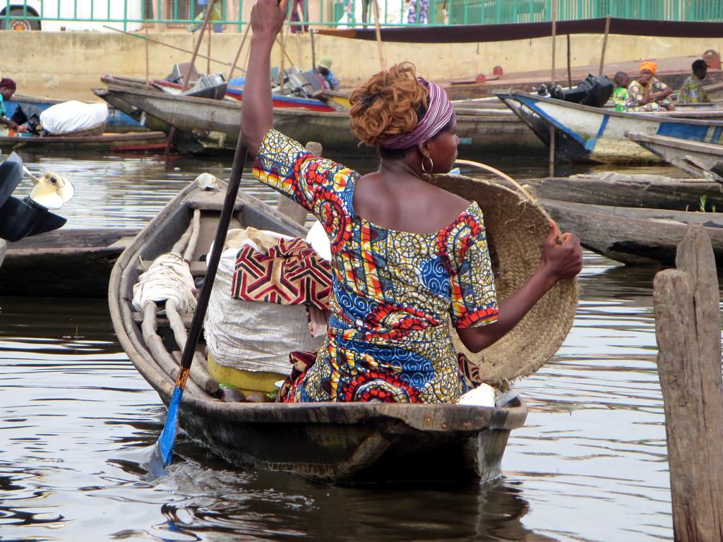
[[[21,149],[163,152],[165,147],[166,134],[163,132],[128,132],[99,136],[0,136],[0,149],[8,152]]]

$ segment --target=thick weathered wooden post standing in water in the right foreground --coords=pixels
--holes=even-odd
[[[723,540],[723,379],[716,264],[691,224],[677,269],[655,275],[658,373],[676,542]]]

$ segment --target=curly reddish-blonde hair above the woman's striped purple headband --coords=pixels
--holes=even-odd
[[[416,80],[414,64],[395,64],[351,93],[351,131],[367,145],[382,145],[388,137],[414,130],[427,111],[428,98],[429,90]]]

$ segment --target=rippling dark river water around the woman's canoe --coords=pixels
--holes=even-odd
[[[140,227],[198,173],[227,177],[230,165],[23,158],[74,181],[67,228]],[[547,168],[488,163],[518,178]],[[526,425],[510,436],[504,478],[479,487],[322,486],[235,470],[183,436],[168,475],[147,481],[133,452],[158,439],[165,411],[117,343],[106,301],[0,298],[0,539],[672,540],[653,277],[586,253],[573,329],[516,384]]]

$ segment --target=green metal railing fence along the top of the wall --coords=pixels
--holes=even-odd
[[[254,0],[218,0],[216,31],[241,30]],[[296,25],[356,27],[372,20],[372,0],[290,0]],[[549,21],[555,0],[376,0],[380,22],[395,25],[479,25]],[[244,10],[244,4],[247,9]],[[208,0],[0,0],[0,29],[136,30],[145,22],[197,27]],[[311,14],[311,15],[310,15]],[[594,17],[723,21],[723,0],[557,0],[557,20]]]

